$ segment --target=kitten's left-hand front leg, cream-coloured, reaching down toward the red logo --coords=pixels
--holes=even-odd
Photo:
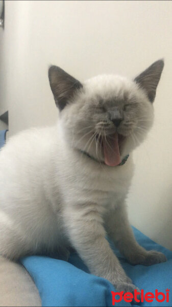
[[[116,290],[133,292],[137,289],[105,238],[99,206],[94,203],[70,204],[64,210],[64,223],[72,246],[92,274],[108,279]]]

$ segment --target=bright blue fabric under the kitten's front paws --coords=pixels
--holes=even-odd
[[[122,267],[133,283],[141,290],[152,292],[155,289],[166,295],[166,289],[172,290],[172,252],[156,244],[140,231],[133,228],[137,241],[147,250],[163,252],[168,261],[151,267],[132,266],[119,254],[113,245]],[[21,259],[21,263],[33,277],[42,300],[42,306],[112,306],[112,284],[100,277],[89,274],[81,258],[73,253],[69,262],[43,256],[30,256]],[[172,306],[169,302],[146,302],[134,306]],[[118,298],[118,297],[116,297]],[[162,296],[159,296],[161,299]],[[131,306],[131,303],[115,302],[115,306]]]

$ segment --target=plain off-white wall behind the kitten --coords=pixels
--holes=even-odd
[[[55,122],[49,64],[82,81],[101,73],[133,77],[165,58],[155,125],[135,152],[128,204],[131,223],[172,249],[172,2],[6,1],[5,5],[0,101],[1,109],[9,109],[11,135]]]

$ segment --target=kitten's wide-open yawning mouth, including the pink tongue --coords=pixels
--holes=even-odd
[[[103,147],[105,164],[109,166],[116,166],[121,163],[120,151],[121,145],[125,137],[115,132],[114,134],[101,136],[99,142]]]

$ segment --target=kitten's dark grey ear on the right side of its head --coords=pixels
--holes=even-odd
[[[138,83],[143,90],[145,90],[151,102],[153,102],[155,99],[156,89],[163,67],[164,61],[158,60],[134,79],[134,81]]]

